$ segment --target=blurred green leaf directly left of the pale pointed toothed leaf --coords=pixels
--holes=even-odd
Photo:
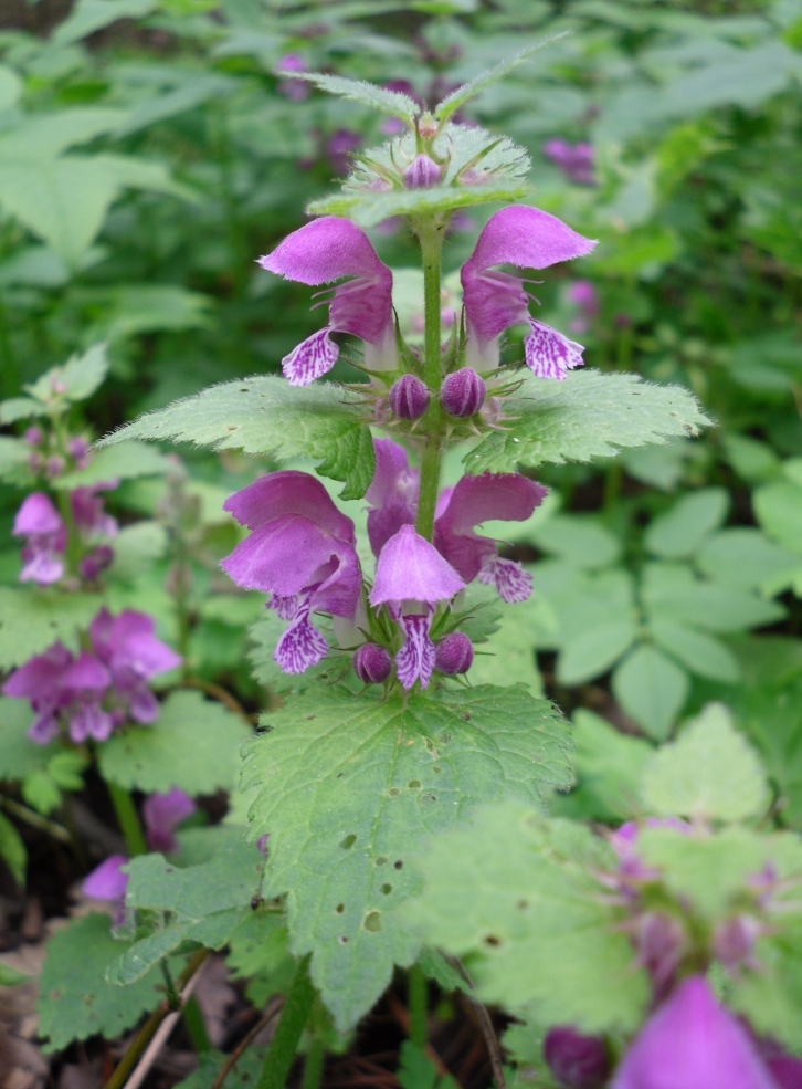
[[[630,820],[641,813],[641,774],[654,753],[648,742],[615,730],[605,719],[580,709],[573,714],[573,768],[577,786],[555,795],[558,815],[594,820]]]

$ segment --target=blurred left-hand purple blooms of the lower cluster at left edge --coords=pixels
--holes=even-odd
[[[29,736],[46,745],[59,735],[60,719],[67,723],[76,744],[93,737],[105,741],[114,722],[102,706],[110,677],[106,667],[87,651],[74,658],[62,643],[49,647],[20,666],[3,685],[3,693],[28,700],[36,713]]]

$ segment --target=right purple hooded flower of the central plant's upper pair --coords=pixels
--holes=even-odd
[[[528,322],[524,338],[526,365],[540,378],[564,378],[582,365],[582,345],[529,316],[523,281],[490,271],[509,263],[547,269],[558,261],[589,253],[595,242],[539,208],[513,205],[492,216],[476,248],[462,268],[467,334],[466,362],[478,369],[498,363],[498,337],[513,325]]]

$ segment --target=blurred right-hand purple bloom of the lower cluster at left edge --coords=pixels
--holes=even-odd
[[[115,726],[126,719],[155,722],[159,702],[148,681],[181,663],[180,657],[156,638],[155,630],[152,617],[130,609],[117,617],[101,609],[89,625],[94,651],[109,673]]]

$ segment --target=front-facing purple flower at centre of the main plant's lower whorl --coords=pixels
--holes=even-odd
[[[381,549],[370,604],[387,605],[401,627],[404,643],[395,656],[398,678],[405,689],[420,680],[426,688],[436,651],[429,636],[432,614],[465,584],[454,568],[411,525],[403,525]]]

